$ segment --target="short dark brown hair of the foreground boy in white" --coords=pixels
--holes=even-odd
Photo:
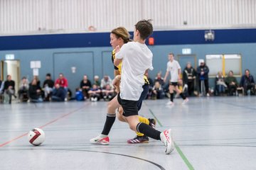
[[[135,29],[139,30],[139,35],[142,40],[146,40],[153,33],[151,20],[141,20],[135,25]]]

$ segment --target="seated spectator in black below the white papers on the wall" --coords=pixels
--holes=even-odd
[[[42,102],[42,94],[43,91],[40,86],[38,86],[38,81],[36,79],[33,79],[31,84],[29,84],[29,89],[28,89],[28,96],[30,98],[31,102]]]

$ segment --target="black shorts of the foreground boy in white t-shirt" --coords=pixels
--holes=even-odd
[[[129,101],[124,100],[120,98],[120,94],[117,94],[117,101],[122,106],[124,113],[123,115],[125,117],[131,116],[131,115],[138,115],[138,101]]]

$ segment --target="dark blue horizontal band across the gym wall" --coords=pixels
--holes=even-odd
[[[204,40],[205,30],[154,31],[155,45],[218,44],[256,42],[256,29],[214,30],[213,42]],[[130,33],[132,35],[132,33]],[[108,47],[110,33],[0,36],[0,50],[72,47]]]

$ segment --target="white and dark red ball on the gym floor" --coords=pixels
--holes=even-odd
[[[28,132],[28,141],[35,146],[41,145],[45,141],[46,136],[43,130],[34,128]]]

